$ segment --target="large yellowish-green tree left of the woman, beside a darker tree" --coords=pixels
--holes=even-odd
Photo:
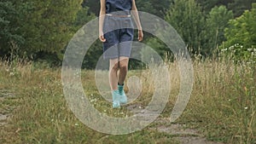
[[[26,39],[22,50],[26,55],[39,52],[56,54],[61,59],[61,50],[73,36],[73,22],[81,8],[81,1],[72,0],[27,0],[16,5],[28,5],[22,12],[20,32]]]

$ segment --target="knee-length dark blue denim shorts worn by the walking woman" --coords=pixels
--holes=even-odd
[[[103,32],[106,38],[106,42],[103,43],[103,59],[130,57],[134,34],[131,17],[106,15]]]

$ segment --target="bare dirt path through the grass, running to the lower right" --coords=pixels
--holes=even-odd
[[[142,114],[142,109],[137,106],[129,106],[129,110],[134,114]],[[144,112],[143,115],[152,114]],[[170,124],[169,118],[157,118],[154,121],[154,127],[150,129],[158,130],[159,132],[169,133],[174,135],[181,144],[221,144],[218,142],[207,141],[204,135],[201,135],[198,130],[185,128],[184,124]]]

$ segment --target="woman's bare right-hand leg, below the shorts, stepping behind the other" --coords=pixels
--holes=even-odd
[[[119,84],[124,84],[125,77],[128,72],[128,62],[129,58],[128,57],[120,57],[119,58],[119,73],[118,73],[118,82]]]

